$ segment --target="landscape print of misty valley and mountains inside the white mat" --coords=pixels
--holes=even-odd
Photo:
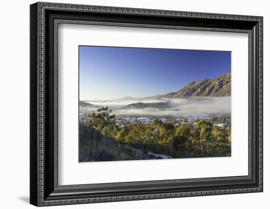
[[[79,46],[79,162],[231,156],[231,52]]]

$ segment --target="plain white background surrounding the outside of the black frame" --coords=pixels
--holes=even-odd
[[[1,2],[0,12],[0,206],[34,208],[29,199],[29,4],[33,0]],[[137,7],[264,16],[264,192],[177,199],[143,200],[58,208],[137,209],[268,208],[270,197],[270,13],[267,0],[51,0],[120,7]],[[55,208],[55,207],[52,207]]]

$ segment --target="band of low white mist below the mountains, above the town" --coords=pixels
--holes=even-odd
[[[168,103],[166,108],[126,108],[128,104],[135,103]],[[175,115],[175,116],[202,116],[213,114],[231,114],[231,97],[191,97],[189,99],[161,99],[161,100],[132,100],[132,101],[87,101],[87,103],[95,105],[80,109],[91,111],[101,106],[108,106],[116,115]]]

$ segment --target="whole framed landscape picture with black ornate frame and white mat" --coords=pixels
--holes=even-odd
[[[263,17],[30,5],[30,203],[263,191]]]

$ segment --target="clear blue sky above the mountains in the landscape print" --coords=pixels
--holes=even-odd
[[[79,46],[80,100],[175,92],[231,72],[231,52]]]

